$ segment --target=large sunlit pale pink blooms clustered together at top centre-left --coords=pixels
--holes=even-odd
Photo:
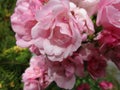
[[[40,52],[51,61],[72,55],[94,27],[87,12],[68,0],[18,0],[11,16],[17,45]],[[26,13],[27,12],[27,13]]]

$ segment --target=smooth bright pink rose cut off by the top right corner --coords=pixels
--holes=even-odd
[[[97,25],[120,33],[120,0],[100,0]]]

